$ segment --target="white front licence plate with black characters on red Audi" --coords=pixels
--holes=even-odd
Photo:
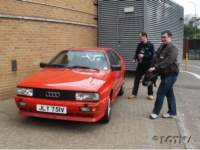
[[[67,107],[62,106],[49,106],[49,105],[36,105],[38,112],[56,113],[56,114],[67,114]]]

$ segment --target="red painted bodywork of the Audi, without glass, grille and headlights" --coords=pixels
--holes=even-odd
[[[70,49],[71,50],[71,49]],[[109,48],[77,48],[74,50],[95,50],[106,51]],[[120,71],[97,71],[91,69],[69,69],[69,68],[43,68],[33,73],[20,82],[17,87],[41,88],[52,90],[71,90],[78,92],[97,92],[99,100],[97,102],[82,102],[74,100],[54,100],[35,97],[16,96],[15,101],[19,108],[19,114],[49,119],[61,119],[83,122],[97,122],[105,114],[108,99],[111,96],[112,103],[124,84],[125,65],[120,57]],[[107,58],[108,59],[108,58]],[[19,105],[19,102],[26,105]],[[67,107],[67,114],[53,114],[36,111],[36,105],[50,105]],[[82,112],[81,107],[87,106],[91,111]]]

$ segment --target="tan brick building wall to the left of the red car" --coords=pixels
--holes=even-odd
[[[59,51],[95,47],[95,0],[0,1],[0,100]],[[17,71],[11,61],[17,60]]]

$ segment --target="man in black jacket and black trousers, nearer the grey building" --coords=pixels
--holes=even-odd
[[[150,68],[150,65],[154,56],[154,46],[148,41],[147,33],[139,33],[140,43],[137,46],[135,56],[133,58],[134,62],[138,62],[136,69],[136,76],[134,80],[134,86],[132,90],[132,95],[128,99],[134,99],[137,96],[140,80],[145,72]],[[148,97],[149,100],[153,100],[153,86],[148,86]]]

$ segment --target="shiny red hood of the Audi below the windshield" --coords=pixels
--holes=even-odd
[[[107,77],[103,71],[45,68],[28,76],[18,86],[97,92]]]

